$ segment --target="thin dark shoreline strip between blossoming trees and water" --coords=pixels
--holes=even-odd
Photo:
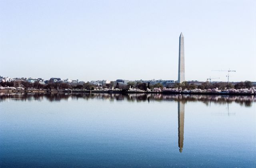
[[[250,93],[191,93],[191,92],[136,92],[136,91],[117,91],[117,90],[108,90],[108,91],[102,91],[102,90],[11,90],[11,89],[5,89],[0,90],[0,93],[58,93],[58,92],[64,92],[64,93],[115,93],[115,94],[197,94],[197,95],[238,95],[238,96],[256,96],[256,93],[250,94]]]

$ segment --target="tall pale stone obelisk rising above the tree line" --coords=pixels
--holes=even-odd
[[[184,36],[180,33],[178,83],[185,81]]]

